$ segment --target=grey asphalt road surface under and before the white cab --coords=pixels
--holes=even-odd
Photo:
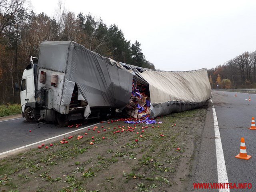
[[[92,121],[79,128],[97,123]],[[58,136],[79,128],[58,127],[54,124],[26,122],[24,118],[0,122],[0,153]],[[29,132],[31,130],[32,132]],[[56,139],[55,139],[56,140]]]

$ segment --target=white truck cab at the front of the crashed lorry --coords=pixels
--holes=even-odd
[[[22,106],[22,116],[28,121],[35,119],[33,108],[36,106],[35,82],[37,74],[38,58],[30,57],[30,64],[23,72],[20,85],[20,102]]]

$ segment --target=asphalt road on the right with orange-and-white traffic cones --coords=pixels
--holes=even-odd
[[[249,130],[251,120],[256,118],[256,95],[234,92],[213,91],[222,148],[230,183],[252,183],[252,189],[230,191],[256,191],[256,130]],[[251,98],[251,101],[245,100]],[[240,139],[245,138],[250,160],[235,158],[239,154]]]

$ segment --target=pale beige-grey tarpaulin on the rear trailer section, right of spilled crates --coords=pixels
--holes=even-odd
[[[143,70],[149,84],[151,117],[200,107],[212,97],[206,68],[184,72]]]

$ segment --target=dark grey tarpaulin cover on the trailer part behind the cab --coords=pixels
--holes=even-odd
[[[86,100],[91,108],[121,108],[131,96],[131,73],[76,42],[42,42],[39,67],[66,72],[60,100],[62,106],[70,103],[75,83],[78,100]]]

